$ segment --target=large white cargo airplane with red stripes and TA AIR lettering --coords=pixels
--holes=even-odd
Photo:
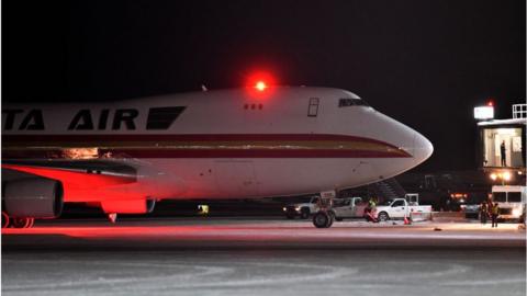
[[[65,203],[99,206],[114,219],[149,213],[167,198],[354,187],[400,174],[433,152],[419,133],[339,89],[258,82],[2,107],[2,227],[58,217]],[[330,217],[321,215],[315,225],[328,227]]]

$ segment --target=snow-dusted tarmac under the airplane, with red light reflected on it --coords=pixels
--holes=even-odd
[[[516,224],[280,218],[2,229],[3,295],[526,295]]]

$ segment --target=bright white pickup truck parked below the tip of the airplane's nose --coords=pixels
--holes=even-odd
[[[418,205],[416,202],[408,204],[405,198],[388,200],[375,207],[377,218],[381,221],[389,219],[425,219],[431,215],[431,206]]]

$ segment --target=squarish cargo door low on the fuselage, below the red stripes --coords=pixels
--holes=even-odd
[[[216,161],[216,187],[225,197],[254,196],[258,182],[253,161]]]

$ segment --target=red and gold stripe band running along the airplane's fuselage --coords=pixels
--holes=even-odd
[[[133,158],[406,158],[397,147],[375,139],[344,135],[310,134],[229,134],[229,135],[3,135],[4,158],[61,158],[57,147],[101,147],[99,155]],[[214,143],[236,143],[233,147],[210,147]],[[253,143],[269,143],[267,148],[250,147]],[[302,143],[299,149],[290,143]],[[119,145],[115,145],[119,143]],[[128,147],[126,144],[131,144]],[[134,145],[132,145],[132,143]],[[137,143],[141,143],[139,147]],[[165,146],[159,146],[164,143]],[[184,143],[203,143],[209,147],[186,148]],[[319,145],[324,143],[325,145]],[[333,149],[326,146],[336,143]],[[373,148],[338,148],[339,143],[371,144]],[[168,145],[167,145],[168,144]],[[179,147],[171,147],[178,144]],[[247,147],[240,147],[239,145]],[[312,145],[312,146],[310,146]],[[371,146],[370,145],[370,146]],[[16,149],[9,149],[16,147]]]

